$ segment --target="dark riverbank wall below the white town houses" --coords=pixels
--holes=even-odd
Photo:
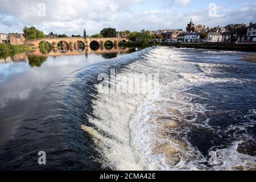
[[[160,43],[159,46],[256,52],[256,43]]]

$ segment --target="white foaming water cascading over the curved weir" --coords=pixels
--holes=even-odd
[[[232,166],[238,166],[246,157],[242,154],[237,154],[236,158],[229,156],[220,166],[208,167],[205,156],[188,142],[186,134],[193,125],[211,128],[208,119],[197,123],[199,115],[207,111],[204,105],[191,102],[192,98],[200,96],[185,90],[202,84],[241,80],[213,78],[216,64],[189,63],[183,55],[179,49],[148,49],[141,59],[117,74],[117,85],[125,85],[129,74],[139,76],[159,70],[160,85],[155,88],[159,89],[159,94],[155,94],[154,88],[147,94],[98,93],[97,100],[93,101],[96,118],[88,116],[94,127],[83,125],[82,129],[94,139],[96,149],[102,154],[102,166],[117,170],[233,169]],[[232,151],[234,147],[217,152],[225,155],[226,150]],[[247,158],[251,162],[253,157]],[[241,165],[245,169],[255,166],[255,161],[249,166]]]

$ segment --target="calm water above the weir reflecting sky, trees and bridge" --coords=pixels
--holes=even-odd
[[[82,48],[79,43],[68,51],[63,51],[65,47],[56,46],[51,51],[45,48],[0,57],[0,146],[18,133],[17,129],[23,125],[21,121],[34,111],[42,98],[47,98],[43,94],[53,83],[66,76],[67,83],[72,82],[81,68],[136,51],[118,46]]]

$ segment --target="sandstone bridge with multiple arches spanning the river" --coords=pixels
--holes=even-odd
[[[28,46],[39,47],[40,42],[48,42],[52,48],[57,48],[59,43],[67,43],[69,48],[73,48],[77,43],[83,43],[84,47],[90,46],[93,42],[99,46],[103,46],[106,42],[111,42],[113,46],[117,46],[120,42],[127,42],[126,38],[45,38],[36,40],[27,40]]]

